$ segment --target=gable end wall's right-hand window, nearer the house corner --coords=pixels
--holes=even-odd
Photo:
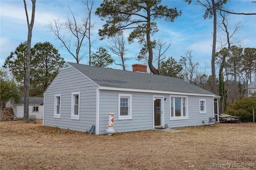
[[[80,92],[72,93],[71,119],[79,120],[80,117]]]

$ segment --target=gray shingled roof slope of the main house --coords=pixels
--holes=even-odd
[[[215,94],[180,78],[68,63],[99,86],[193,94]]]

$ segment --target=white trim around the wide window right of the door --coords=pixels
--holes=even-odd
[[[172,117],[172,112],[171,112],[171,98],[185,98],[185,106],[186,106],[186,116],[183,116],[183,113],[181,113],[182,116],[178,116],[175,117],[175,113],[174,113],[174,117]],[[188,96],[182,96],[182,95],[170,95],[169,98],[169,107],[170,107],[170,120],[184,120],[184,119],[188,119]],[[173,106],[174,106],[174,111],[175,111],[175,101],[173,101]],[[181,108],[182,108],[182,102],[181,102]]]

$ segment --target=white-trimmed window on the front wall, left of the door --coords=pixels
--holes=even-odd
[[[118,120],[132,119],[132,95],[118,94]]]

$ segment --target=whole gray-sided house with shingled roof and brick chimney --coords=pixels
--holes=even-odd
[[[44,126],[105,134],[109,113],[115,132],[207,124],[218,98],[184,80],[133,71],[66,63],[44,92]]]

